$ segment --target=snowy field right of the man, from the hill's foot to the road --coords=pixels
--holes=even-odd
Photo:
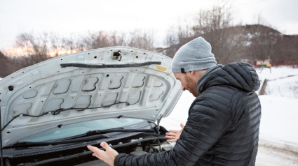
[[[298,146],[298,68],[258,68],[260,80],[268,80],[262,104],[260,139]]]

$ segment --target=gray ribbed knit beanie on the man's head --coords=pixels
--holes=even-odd
[[[204,38],[198,37],[180,47],[172,59],[172,72],[203,70],[216,65],[211,45]]]

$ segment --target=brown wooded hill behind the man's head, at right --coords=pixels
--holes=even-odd
[[[218,63],[226,64],[241,59],[254,62],[256,59],[270,58],[273,65],[298,64],[298,35],[284,35],[262,24],[239,25],[207,32],[196,32],[196,29],[193,27],[194,32],[190,36],[176,36],[176,43],[157,48],[156,52],[172,57],[182,45],[203,36],[212,45],[212,53]]]

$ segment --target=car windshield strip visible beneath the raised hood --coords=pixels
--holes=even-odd
[[[135,123],[140,123],[142,119],[129,119],[129,118],[113,118],[113,119],[99,119],[94,121],[84,121],[81,123],[69,124],[67,126],[61,126],[60,128],[53,128],[36,135],[32,135],[25,139],[21,139],[19,142],[45,142],[51,139],[62,139],[65,137],[72,137],[74,135],[80,135],[90,130],[106,130],[110,128],[120,128],[123,126],[129,126]]]

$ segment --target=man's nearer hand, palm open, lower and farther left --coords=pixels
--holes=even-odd
[[[107,142],[100,143],[100,146],[102,146],[106,151],[102,151],[102,150],[98,149],[97,147],[90,146],[90,145],[88,145],[87,148],[90,151],[93,151],[93,154],[92,154],[93,156],[99,158],[100,160],[103,160],[108,165],[113,166],[114,160],[115,160],[116,156],[118,155],[118,152],[115,151],[114,149],[112,149],[107,144]]]

